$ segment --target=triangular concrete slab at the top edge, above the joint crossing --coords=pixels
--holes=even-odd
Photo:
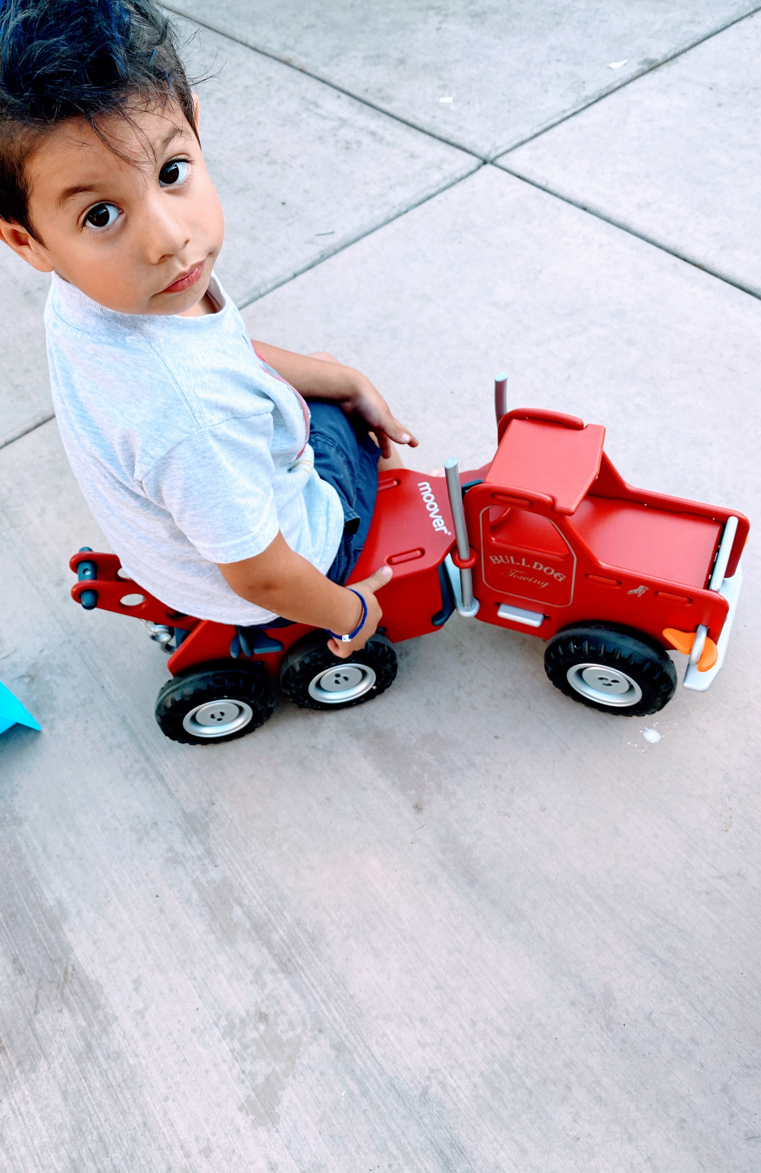
[[[756,6],[178,0],[170,7],[491,157]]]

